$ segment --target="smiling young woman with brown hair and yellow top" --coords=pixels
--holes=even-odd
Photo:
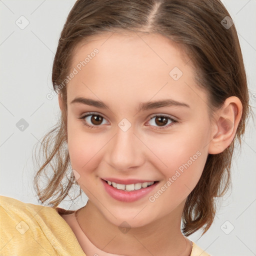
[[[248,115],[222,3],[77,0],[52,83],[61,119],[42,141],[34,178],[51,207],[0,196],[0,253],[208,255],[186,236],[210,227]],[[41,188],[48,167],[54,175]],[[69,170],[75,182],[63,184]],[[57,207],[75,184],[86,205]]]

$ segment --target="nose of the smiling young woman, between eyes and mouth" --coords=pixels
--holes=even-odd
[[[120,125],[106,148],[106,161],[118,171],[139,167],[145,161],[146,146],[131,125],[127,130]]]

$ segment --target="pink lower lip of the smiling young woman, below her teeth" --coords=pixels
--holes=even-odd
[[[108,185],[108,183],[104,179],[101,179],[101,181],[103,182],[103,186],[109,195],[111,195],[114,199],[118,201],[123,201],[123,202],[133,202],[142,198],[143,196],[151,192],[158,183],[157,181],[145,188],[141,187],[140,189],[137,189],[137,190],[124,191],[124,190],[117,189],[111,185]]]

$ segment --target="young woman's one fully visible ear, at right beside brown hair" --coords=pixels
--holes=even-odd
[[[227,148],[234,136],[242,115],[242,103],[238,97],[228,97],[221,109],[214,114],[209,154],[217,154]]]

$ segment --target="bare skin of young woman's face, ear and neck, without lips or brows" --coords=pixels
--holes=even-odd
[[[180,231],[185,199],[198,182],[208,153],[222,152],[231,143],[241,102],[237,97],[227,98],[210,119],[208,95],[196,85],[191,61],[180,46],[162,35],[115,32],[93,36],[89,43],[76,47],[71,67],[94,48],[99,52],[67,84],[70,161],[89,198],[79,211],[78,222],[89,240],[105,252],[188,255],[191,244]],[[169,75],[173,67],[183,73],[178,80]],[[78,96],[101,100],[109,108],[70,103]],[[138,112],[140,102],[166,98],[189,107],[172,105]],[[63,110],[60,96],[59,106]],[[79,118],[87,112],[103,116],[101,124],[96,126],[92,115],[86,121],[95,128],[84,126]],[[168,120],[166,128],[157,130],[162,126],[153,117],[156,114],[178,122],[166,127]],[[118,126],[123,118],[131,124],[127,131]],[[196,152],[200,156],[158,198],[149,201]],[[106,193],[101,177],[159,183],[149,195],[121,202]],[[131,227],[127,233],[118,228],[123,221]]]

